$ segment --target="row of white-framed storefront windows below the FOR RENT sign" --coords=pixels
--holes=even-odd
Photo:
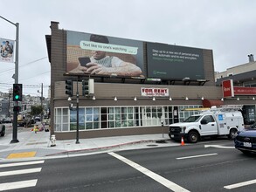
[[[176,106],[179,121],[183,121],[197,111],[188,110],[202,106]],[[173,106],[110,106],[80,107],[79,129],[121,127],[150,127],[173,123]],[[186,110],[187,109],[187,110]],[[69,108],[55,108],[55,131],[75,131],[77,112]]]

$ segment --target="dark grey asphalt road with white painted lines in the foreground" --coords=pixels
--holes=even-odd
[[[22,181],[31,187],[12,191],[255,191],[256,155],[246,156],[232,147],[228,140],[203,141],[31,165],[2,163],[0,190],[3,183],[15,186]]]

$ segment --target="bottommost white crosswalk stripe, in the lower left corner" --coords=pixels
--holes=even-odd
[[[5,182],[0,184],[0,191],[35,187],[37,185],[37,182],[37,179],[21,182]]]

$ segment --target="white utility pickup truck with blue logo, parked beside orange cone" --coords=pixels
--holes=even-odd
[[[171,140],[180,141],[183,138],[196,143],[204,136],[226,135],[233,139],[243,128],[244,120],[241,112],[209,110],[192,115],[183,122],[170,124],[169,136]]]

